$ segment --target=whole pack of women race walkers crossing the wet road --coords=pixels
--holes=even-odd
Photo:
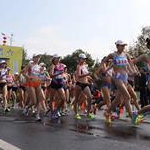
[[[105,56],[94,72],[89,71],[84,53],[79,54],[76,70],[71,74],[57,54],[53,55],[51,66],[46,66],[40,61],[41,55],[35,54],[20,73],[14,74],[10,73],[7,62],[1,60],[0,101],[3,113],[20,107],[24,116],[33,113],[37,121],[42,120],[41,114],[56,120],[70,111],[74,113],[74,119],[85,117],[94,120],[95,114],[104,108],[107,124],[112,124],[126,112],[132,124],[138,125],[150,112],[149,104],[143,107],[139,104],[134,82],[135,76],[141,76],[136,64],[145,62],[150,91],[150,39],[146,43],[149,53],[133,58],[125,50],[127,44],[116,41],[116,51]]]

